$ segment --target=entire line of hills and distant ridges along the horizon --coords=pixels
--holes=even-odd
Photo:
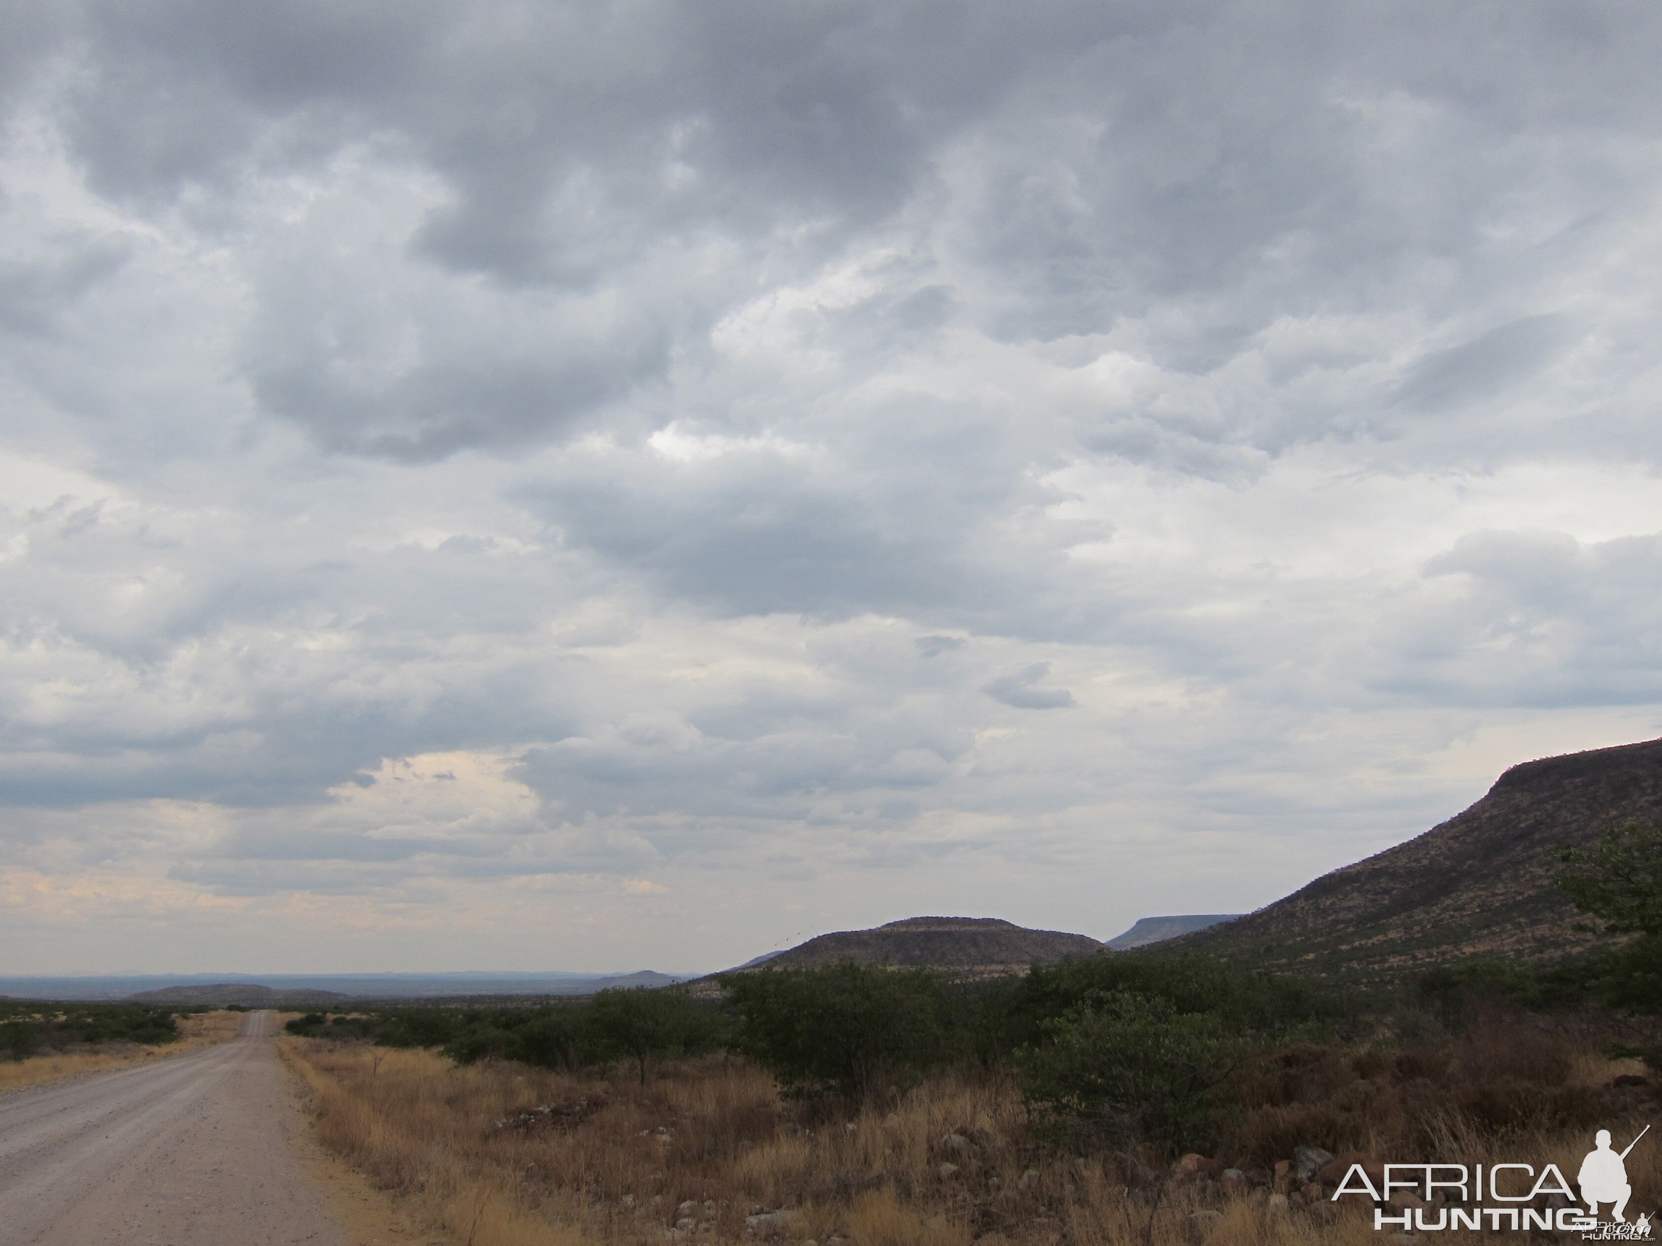
[[[1551,960],[1602,939],[1577,929],[1581,915],[1554,885],[1554,849],[1594,844],[1609,826],[1627,821],[1662,822],[1662,739],[1512,766],[1456,817],[1245,917],[1143,917],[1107,944],[996,917],[909,917],[871,930],[819,935],[730,972],[828,965],[851,957],[986,979],[1152,944],[1356,982],[1388,982],[1476,955]],[[590,995],[607,987],[688,980],[653,970],[15,977],[0,979],[0,997],[316,1007],[349,998]],[[713,990],[708,979],[701,982]]]

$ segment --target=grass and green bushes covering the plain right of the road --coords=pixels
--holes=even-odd
[[[844,962],[314,1013],[286,1055],[322,1140],[475,1246],[1379,1241],[1369,1199],[1331,1198],[1353,1161],[1574,1176],[1596,1128],[1655,1118],[1659,1008],[1629,949],[1662,930],[1599,890],[1629,895],[1620,854],[1649,847],[1610,842],[1619,869],[1566,869],[1634,940],[1579,967],[1355,995],[1153,950],[992,984]],[[1635,1211],[1662,1206],[1659,1156],[1629,1156]]]

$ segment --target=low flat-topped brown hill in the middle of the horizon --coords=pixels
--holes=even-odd
[[[939,969],[954,977],[996,977],[1070,955],[1100,952],[1089,935],[1029,930],[997,917],[907,917],[874,930],[839,930],[809,939],[763,960],[766,969],[811,969],[843,959],[889,960],[912,969]],[[756,965],[750,960],[740,969]]]

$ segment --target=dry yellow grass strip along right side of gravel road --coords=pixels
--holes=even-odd
[[[1233,1196],[1167,1185],[1155,1204],[1150,1191],[1127,1188],[1112,1160],[1027,1141],[1020,1100],[999,1077],[942,1075],[888,1108],[816,1121],[781,1103],[765,1073],[730,1058],[671,1065],[637,1087],[632,1077],[514,1063],[454,1067],[429,1052],[296,1038],[281,1048],[311,1090],[319,1140],[469,1246],[718,1246],[765,1236],[818,1246],[1381,1241],[1360,1199],[1278,1208],[1266,1190]],[[1624,1068],[1582,1053],[1574,1077],[1592,1087],[1615,1072]],[[540,1106],[552,1111],[532,1111]],[[1582,1128],[1516,1131],[1504,1155],[1466,1118],[1434,1118],[1429,1128],[1439,1160],[1551,1160],[1571,1180],[1589,1148]],[[969,1148],[944,1151],[949,1133]],[[1629,1160],[1634,1208],[1662,1203],[1657,1155],[1662,1146]],[[957,1171],[942,1176],[947,1161]],[[773,1209],[794,1216],[776,1233],[746,1229],[746,1214]]]

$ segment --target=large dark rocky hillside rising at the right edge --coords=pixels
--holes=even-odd
[[[1552,882],[1561,844],[1662,821],[1662,739],[1527,761],[1441,826],[1167,947],[1389,980],[1473,955],[1554,960],[1602,935]]]

